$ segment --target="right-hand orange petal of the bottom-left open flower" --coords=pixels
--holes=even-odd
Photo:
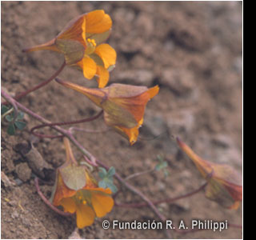
[[[92,193],[91,202],[98,218],[105,216],[114,206],[113,198],[99,191]]]

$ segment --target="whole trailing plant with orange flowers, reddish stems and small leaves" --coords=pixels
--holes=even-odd
[[[31,134],[38,138],[63,139],[66,149],[66,161],[61,166],[58,166],[55,171],[54,188],[50,200],[42,194],[38,186],[38,178],[35,178],[35,186],[42,200],[58,214],[64,216],[75,214],[76,224],[79,229],[91,226],[95,218],[106,216],[106,214],[113,210],[114,206],[128,208],[149,206],[154,214],[162,222],[165,222],[166,217],[156,205],[162,202],[173,203],[179,199],[197,194],[201,190],[205,190],[206,198],[218,202],[221,206],[228,209],[238,209],[242,202],[242,182],[239,174],[230,166],[209,162],[200,158],[179,138],[177,138],[175,144],[178,143],[178,146],[194,162],[205,179],[205,183],[198,189],[176,198],[154,201],[132,186],[129,180],[162,170],[165,176],[169,175],[168,170],[166,170],[168,168],[168,161],[164,155],[159,154],[157,156],[158,164],[152,169],[135,172],[130,174],[130,176],[126,176],[126,178],[122,178],[114,166],[106,166],[104,162],[94,157],[90,150],[87,150],[74,137],[74,124],[91,122],[103,115],[107,126],[110,126],[111,129],[125,137],[130,142],[130,145],[134,145],[138,141],[139,128],[144,122],[146,105],[150,99],[159,93],[159,86],[146,87],[119,83],[112,83],[107,86],[110,78],[109,72],[114,68],[117,58],[114,48],[105,42],[110,36],[111,27],[112,20],[110,15],[106,14],[104,10],[94,10],[74,18],[50,42],[24,50],[25,52],[53,50],[62,54],[64,62],[60,69],[45,82],[34,86],[30,90],[26,90],[22,94],[16,95],[14,98],[2,90],[2,96],[6,99],[2,106],[2,120],[8,123],[8,134],[14,135],[16,129],[22,130],[26,127],[26,123],[23,122],[24,113],[21,112],[22,110],[39,122],[42,122],[42,125],[34,126],[30,130]],[[98,88],[79,86],[73,82],[62,81],[57,78],[65,66],[74,66],[82,70],[84,77],[89,80],[96,77]],[[18,102],[19,98],[26,96],[34,90],[38,90],[54,79],[58,82],[59,87],[65,86],[68,89],[84,94],[86,98],[89,98],[91,102],[101,109],[101,112],[90,118],[71,122],[50,122]],[[63,98],[64,101],[65,98]],[[8,106],[8,103],[10,106]],[[66,130],[62,127],[66,125],[72,125],[72,127]],[[58,135],[46,135],[35,132],[35,130],[46,126],[56,130]],[[80,129],[80,131],[95,132],[94,130],[85,129]],[[107,138],[107,135],[105,137]],[[77,161],[74,158],[70,142],[82,153],[82,161],[80,159],[80,161]],[[38,157],[38,153],[35,155]],[[39,154],[39,156],[41,155]],[[111,155],[108,158],[111,158]],[[118,162],[117,166],[118,164],[122,164],[122,162]],[[40,167],[42,166],[40,165]],[[37,171],[35,172],[38,174]],[[100,179],[94,178],[95,175]],[[45,175],[38,174],[38,176],[44,178]],[[122,186],[125,186],[133,194],[142,198],[143,202],[121,203],[114,200],[122,192],[121,187],[115,186],[115,180],[118,180]],[[62,210],[60,210],[61,208]],[[178,228],[175,231],[181,233]],[[182,231],[182,233],[187,232],[189,231]],[[168,238],[171,237],[170,233],[166,232],[166,234]]]

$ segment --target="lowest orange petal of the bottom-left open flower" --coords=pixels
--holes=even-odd
[[[77,226],[78,228],[84,228],[85,226],[90,226],[94,223],[94,210],[88,205],[78,204],[77,206]]]

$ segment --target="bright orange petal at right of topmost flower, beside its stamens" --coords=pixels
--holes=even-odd
[[[109,66],[114,65],[116,62],[117,53],[115,52],[114,48],[109,44],[103,43],[101,45],[96,46],[94,53],[98,54],[98,56],[102,58],[102,61],[104,62],[104,66],[106,67],[106,69]]]

